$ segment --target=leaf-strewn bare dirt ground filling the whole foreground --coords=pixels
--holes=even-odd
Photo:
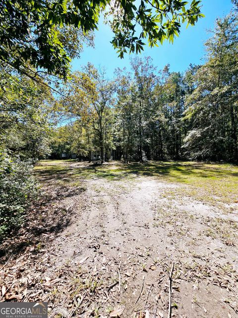
[[[45,186],[2,246],[0,301],[46,301],[52,318],[238,317],[236,215],[152,177],[82,184]]]

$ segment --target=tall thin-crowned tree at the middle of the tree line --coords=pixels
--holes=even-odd
[[[133,74],[117,71],[116,143],[125,162],[129,158],[140,162],[158,159],[163,72],[156,70],[149,57],[132,59],[131,68]]]

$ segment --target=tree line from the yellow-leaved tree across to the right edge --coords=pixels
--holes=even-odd
[[[171,72],[150,57],[134,57],[130,70],[88,64],[64,87],[53,153],[87,159],[100,150],[114,159],[238,161],[238,14],[217,19],[205,43],[205,63]],[[90,159],[90,156],[89,156]]]

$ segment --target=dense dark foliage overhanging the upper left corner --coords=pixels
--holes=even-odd
[[[0,6],[1,61],[26,73],[31,66],[65,78],[69,56],[77,56],[80,43],[78,36],[70,41],[72,37],[68,37],[67,31],[71,25],[78,27],[84,19],[84,6],[67,0],[7,0],[0,1]],[[82,29],[80,36],[85,35]],[[90,31],[90,27],[87,29]]]

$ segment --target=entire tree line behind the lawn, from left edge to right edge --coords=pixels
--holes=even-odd
[[[90,159],[98,150],[101,161],[112,154],[124,162],[237,162],[237,37],[234,10],[217,19],[205,43],[205,63],[183,73],[134,57],[113,80],[88,64],[66,82],[36,82],[1,64],[1,148],[33,160],[63,152]]]

